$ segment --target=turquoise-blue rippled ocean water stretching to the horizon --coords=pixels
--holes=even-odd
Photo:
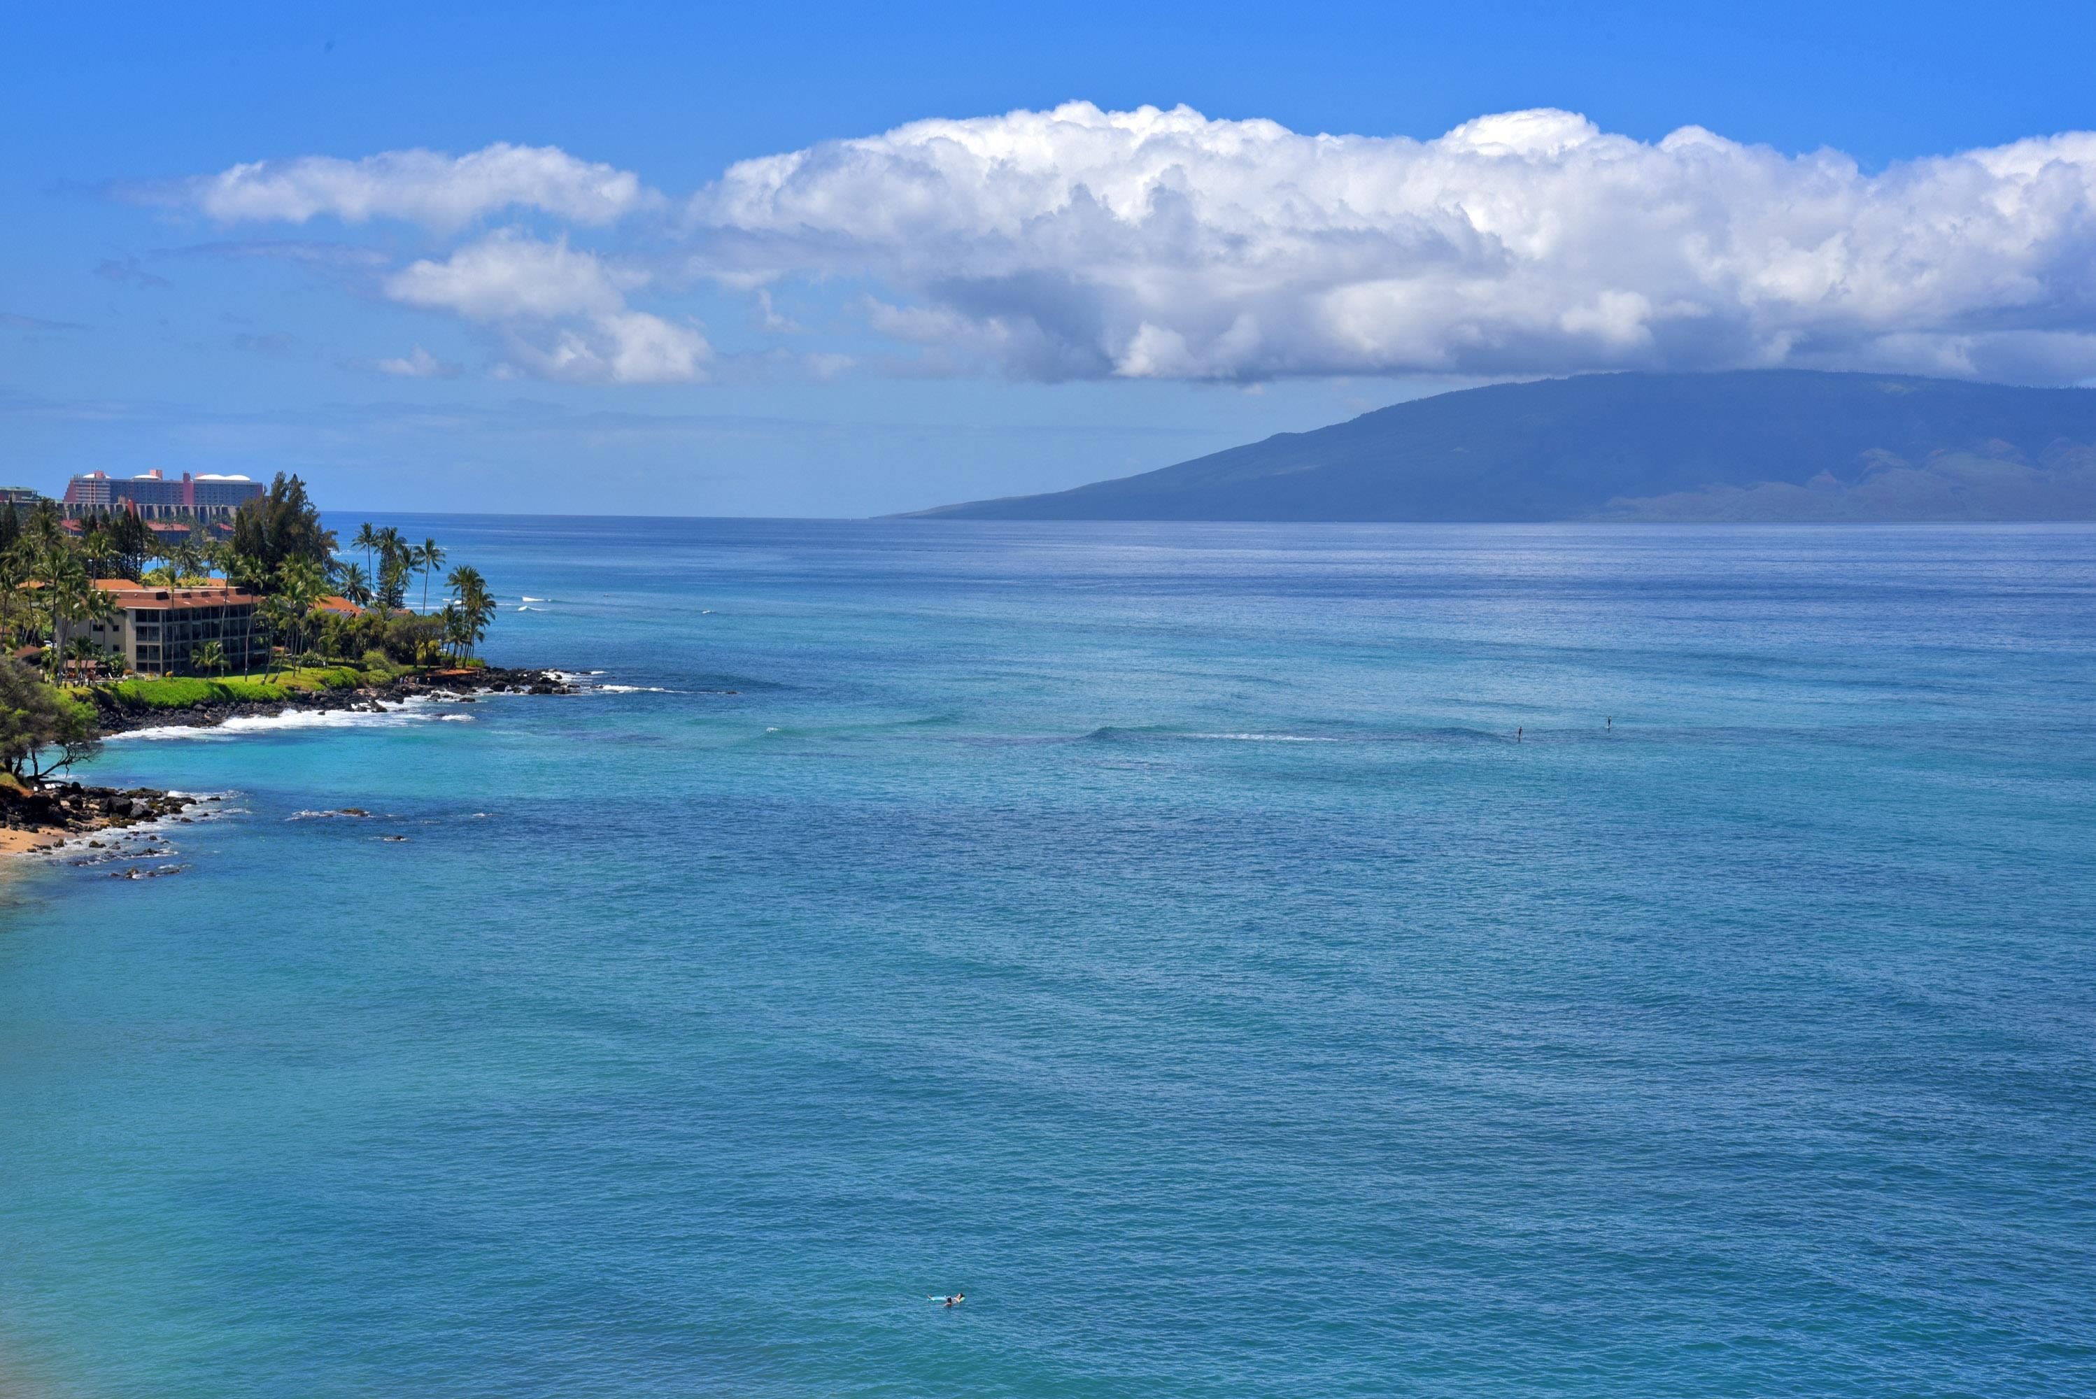
[[[105,750],[0,1393],[2096,1391],[2096,532],[396,524],[637,689]]]

